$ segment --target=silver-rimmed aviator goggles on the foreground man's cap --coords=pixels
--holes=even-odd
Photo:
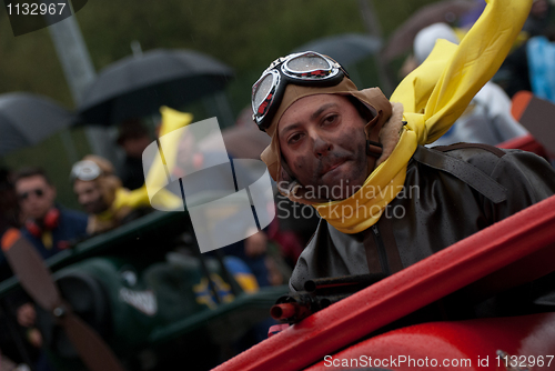
[[[281,57],[272,62],[252,86],[252,119],[266,131],[273,113],[280,107],[287,83],[333,87],[349,78],[345,69],[333,59],[314,51]]]

